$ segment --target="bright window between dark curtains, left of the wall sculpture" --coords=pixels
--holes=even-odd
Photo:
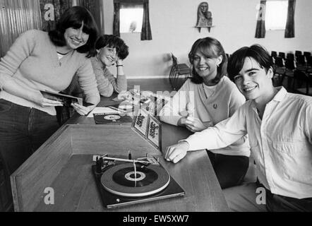
[[[120,9],[120,32],[141,32],[143,20],[143,5],[136,8]]]

